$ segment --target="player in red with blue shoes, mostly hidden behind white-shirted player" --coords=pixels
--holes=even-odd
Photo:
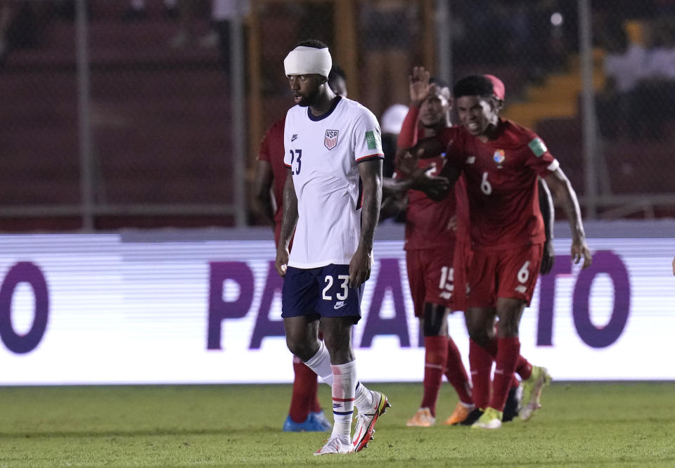
[[[328,86],[335,94],[347,97],[345,72],[334,65],[328,74]],[[283,164],[283,127],[285,117],[278,119],[267,130],[255,167],[255,197],[257,212],[274,229],[274,245],[279,243],[281,217],[283,215],[283,185],[288,169]],[[272,197],[274,196],[274,204]],[[300,358],[293,356],[293,395],[290,399],[288,417],[283,423],[283,431],[330,431],[333,424],[326,419],[317,396],[319,382],[316,373],[307,367]]]

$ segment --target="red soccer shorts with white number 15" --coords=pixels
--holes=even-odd
[[[452,246],[406,251],[408,284],[416,317],[423,316],[425,302],[452,310],[453,256]]]

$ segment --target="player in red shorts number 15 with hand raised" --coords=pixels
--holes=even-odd
[[[410,76],[411,103],[399,134],[398,147],[411,148],[418,138],[441,134],[451,126],[452,105],[449,86],[432,79],[423,67],[415,67]],[[444,157],[418,160],[416,169],[437,174]],[[411,168],[412,169],[412,168]],[[404,174],[401,174],[403,172]],[[400,170],[397,176],[405,176]],[[458,184],[456,190],[462,190]],[[447,317],[453,308],[453,256],[455,245],[455,193],[448,191],[435,202],[419,190],[407,192],[406,265],[415,316],[423,327],[425,346],[424,394],[420,409],[406,423],[411,427],[429,427],[436,422],[436,402],[443,375],[459,396],[453,414],[445,421],[456,424],[473,410],[471,387],[461,355],[449,336]]]

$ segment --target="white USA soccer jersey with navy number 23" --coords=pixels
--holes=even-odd
[[[338,98],[326,114],[288,110],[283,162],[297,195],[297,227],[288,265],[348,265],[361,238],[359,162],[382,158],[380,125],[373,112]]]

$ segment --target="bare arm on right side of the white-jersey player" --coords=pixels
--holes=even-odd
[[[359,287],[371,277],[373,264],[373,238],[380,218],[382,203],[382,160],[373,159],[359,163],[359,176],[364,187],[361,207],[361,239],[359,247],[349,262],[349,287]]]

